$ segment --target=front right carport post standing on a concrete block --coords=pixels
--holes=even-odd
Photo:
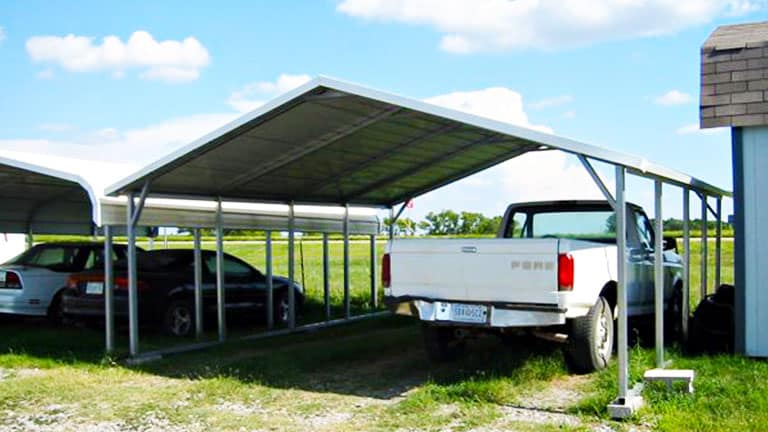
[[[629,364],[627,351],[627,202],[625,199],[625,168],[616,167],[616,267],[617,304],[619,309],[618,334],[618,387],[619,400],[625,400],[628,391]]]

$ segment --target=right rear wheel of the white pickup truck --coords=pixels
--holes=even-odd
[[[600,297],[587,315],[571,321],[565,359],[573,372],[590,373],[608,366],[612,353],[613,311]]]

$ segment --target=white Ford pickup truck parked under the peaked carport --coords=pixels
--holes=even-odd
[[[627,205],[628,316],[654,310],[653,228]],[[510,205],[498,238],[395,239],[382,260],[385,302],[423,322],[432,360],[455,356],[467,337],[527,330],[565,343],[577,372],[604,368],[616,315],[616,225],[606,201]],[[682,261],[665,239],[668,331],[678,331]]]

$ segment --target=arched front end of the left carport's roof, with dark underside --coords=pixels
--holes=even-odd
[[[0,232],[93,232],[96,195],[80,176],[0,157],[0,182]]]

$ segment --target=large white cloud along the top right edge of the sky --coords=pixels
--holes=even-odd
[[[760,9],[763,0],[342,0],[341,13],[426,25],[452,53],[650,37]]]

